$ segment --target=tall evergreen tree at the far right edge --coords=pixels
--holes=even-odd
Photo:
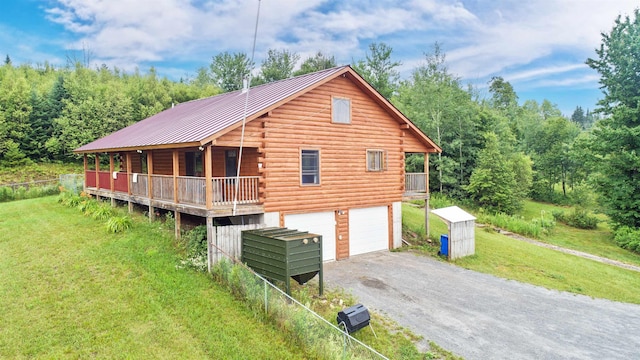
[[[595,125],[590,146],[599,158],[596,188],[616,224],[640,227],[639,9],[616,19],[596,54],[587,64],[600,73],[599,111],[608,116]]]

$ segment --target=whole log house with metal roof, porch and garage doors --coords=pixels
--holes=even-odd
[[[76,149],[85,191],[173,211],[177,234],[181,214],[321,234],[324,261],[402,245],[401,202],[428,199],[441,151],[429,137],[350,66],[248,93],[178,104]],[[405,173],[410,153],[425,154],[423,173]]]

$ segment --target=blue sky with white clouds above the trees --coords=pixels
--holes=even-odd
[[[451,73],[486,96],[502,76],[520,102],[548,99],[571,115],[594,109],[598,74],[585,64],[631,0],[262,0],[256,64],[270,48],[339,64],[385,42],[403,77],[438,42]],[[14,64],[67,59],[193,77],[217,53],[250,53],[258,0],[13,0],[0,10],[0,55]]]

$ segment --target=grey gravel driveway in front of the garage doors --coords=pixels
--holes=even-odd
[[[548,290],[409,252],[327,263],[324,279],[424,336],[422,345],[432,340],[466,359],[640,359],[639,305]]]

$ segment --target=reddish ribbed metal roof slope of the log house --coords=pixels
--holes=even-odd
[[[347,69],[350,67],[340,66],[252,87],[249,90],[247,118],[261,115],[273,105]],[[178,104],[74,151],[94,152],[199,143],[242,122],[245,101],[246,94],[238,90]]]

